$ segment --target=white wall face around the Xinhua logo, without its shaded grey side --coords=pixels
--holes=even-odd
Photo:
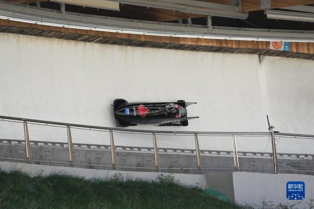
[[[305,183],[305,199],[292,201],[286,198],[288,181],[303,181]],[[314,198],[314,176],[301,174],[262,174],[248,172],[233,173],[235,201],[239,204],[261,205],[264,199],[273,204],[299,203],[297,208],[309,208],[306,201]]]

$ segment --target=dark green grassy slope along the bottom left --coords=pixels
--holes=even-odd
[[[67,174],[30,177],[0,170],[0,208],[241,208],[176,182],[126,180],[122,175],[88,180]]]

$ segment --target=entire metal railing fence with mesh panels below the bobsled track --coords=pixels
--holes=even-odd
[[[0,160],[93,169],[313,175],[313,139],[273,127],[261,133],[147,131],[0,116]]]

